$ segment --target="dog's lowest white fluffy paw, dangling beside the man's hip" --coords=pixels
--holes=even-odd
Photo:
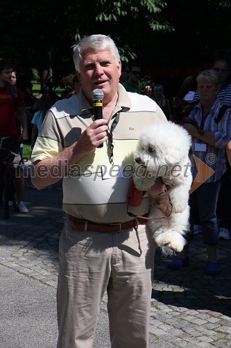
[[[180,233],[173,230],[166,230],[163,233],[155,233],[154,239],[160,248],[170,248],[173,251],[180,253],[184,248],[186,241],[185,238],[180,235]]]

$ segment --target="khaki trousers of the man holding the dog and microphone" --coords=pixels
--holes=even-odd
[[[65,221],[60,236],[58,348],[93,346],[105,291],[111,347],[148,347],[154,250],[145,225],[118,233],[76,232],[73,223]]]

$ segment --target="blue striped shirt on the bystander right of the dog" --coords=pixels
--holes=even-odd
[[[212,108],[209,111],[209,115],[204,119],[203,122],[203,109],[201,103],[194,106],[193,111],[191,111],[189,118],[195,121],[199,127],[202,126],[202,129],[208,132],[214,132],[215,134],[215,146],[209,145],[195,137],[193,137],[192,150],[193,154],[198,157],[204,164],[207,164],[209,168],[212,168],[215,173],[205,181],[215,182],[221,178],[221,175],[226,171],[225,164],[225,147],[230,141],[231,136],[231,109],[228,109],[223,118],[219,123],[216,123],[216,117],[221,109],[221,103],[218,99],[212,105]],[[205,144],[206,151],[195,150],[198,149],[195,146],[196,143]],[[199,148],[200,149],[200,148]],[[198,173],[196,163],[193,158],[191,158],[191,169],[193,174],[193,179]]]

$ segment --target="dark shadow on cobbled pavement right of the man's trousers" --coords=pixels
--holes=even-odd
[[[221,240],[218,258],[221,274],[204,274],[207,254],[201,235],[196,235],[189,248],[189,267],[178,271],[167,269],[170,258],[160,249],[155,255],[152,298],[169,306],[190,310],[208,310],[231,317],[231,239]]]

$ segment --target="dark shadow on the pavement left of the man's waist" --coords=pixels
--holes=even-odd
[[[10,219],[3,219],[0,207],[0,243],[5,245],[32,242],[37,248],[49,248],[58,253],[58,235],[62,230],[65,213],[62,212],[62,182],[52,189],[26,189],[25,203],[28,214],[14,212],[10,207]],[[56,237],[54,237],[56,235]]]

